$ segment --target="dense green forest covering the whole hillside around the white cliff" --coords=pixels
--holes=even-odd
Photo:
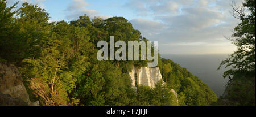
[[[99,61],[100,40],[147,40],[122,17],[48,23],[49,14],[23,3],[14,10],[0,0],[0,60],[19,67],[32,99],[40,105],[210,105],[213,93],[179,64],[160,58],[163,80],[131,88],[131,66],[147,61]],[[179,104],[171,89],[178,93]]]

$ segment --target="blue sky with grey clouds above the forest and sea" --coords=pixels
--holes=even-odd
[[[13,5],[17,0],[7,0]],[[160,54],[232,54],[230,37],[240,20],[233,18],[231,0],[20,0],[37,4],[49,21],[71,21],[87,14],[107,19],[122,16],[158,41]],[[236,0],[241,5],[242,0]]]

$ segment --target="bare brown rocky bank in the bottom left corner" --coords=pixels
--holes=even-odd
[[[5,105],[39,105],[39,101],[30,102],[22,77],[14,64],[0,63],[0,93],[0,101],[4,101],[0,103]]]

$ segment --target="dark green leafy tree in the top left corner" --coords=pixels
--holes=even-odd
[[[0,34],[0,55],[9,62],[19,64],[23,59],[38,57],[36,54],[40,53],[40,47],[46,42],[48,36],[49,14],[38,6],[28,5],[28,3],[23,3],[23,7],[10,12],[15,5],[1,10],[1,12],[5,11],[1,16],[7,25],[0,24],[2,33]],[[1,6],[5,6],[2,1]],[[14,13],[17,13],[18,17],[11,17]]]

